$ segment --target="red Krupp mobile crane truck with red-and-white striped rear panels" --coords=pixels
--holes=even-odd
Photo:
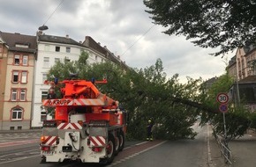
[[[55,108],[55,119],[45,120],[41,135],[42,163],[79,160],[82,163],[111,163],[124,149],[125,112],[118,101],[102,94],[95,84],[107,80],[48,82],[49,99],[42,105]],[[62,98],[54,89],[60,88]]]

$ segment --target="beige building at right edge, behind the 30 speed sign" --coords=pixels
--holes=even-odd
[[[251,112],[256,111],[256,47],[249,45],[237,48],[227,67],[229,75],[236,81],[230,89],[233,102],[243,99]]]

